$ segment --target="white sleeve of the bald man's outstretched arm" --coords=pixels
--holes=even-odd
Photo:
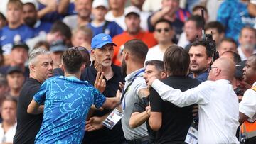
[[[152,87],[158,92],[161,99],[179,107],[189,106],[191,104],[204,105],[210,101],[210,87],[205,86],[203,83],[196,88],[181,92],[180,89],[169,87],[156,79],[152,83]]]

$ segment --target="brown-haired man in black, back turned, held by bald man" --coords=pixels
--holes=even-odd
[[[186,76],[189,62],[186,50],[177,45],[168,48],[164,53],[164,65],[168,77],[163,82],[181,91],[200,84],[196,79]],[[168,101],[163,101],[154,89],[150,91],[149,100],[151,106],[149,125],[157,131],[156,143],[185,143],[188,128],[193,121],[193,106],[179,108]]]

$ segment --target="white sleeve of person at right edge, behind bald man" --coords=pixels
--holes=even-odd
[[[252,118],[256,113],[256,92],[252,89],[245,91],[242,96],[242,101],[239,104],[239,112],[244,113],[249,118]]]

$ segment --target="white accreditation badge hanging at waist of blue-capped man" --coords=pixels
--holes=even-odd
[[[103,126],[110,128],[110,130],[120,121],[124,114],[119,111],[117,108],[110,113],[109,116],[102,122]]]

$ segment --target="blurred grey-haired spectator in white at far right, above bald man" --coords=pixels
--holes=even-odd
[[[242,60],[247,60],[256,52],[256,30],[251,27],[244,27],[240,31],[238,54]]]

